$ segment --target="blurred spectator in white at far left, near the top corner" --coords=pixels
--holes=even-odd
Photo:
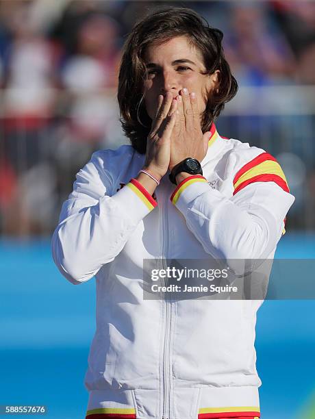
[[[10,29],[6,115],[16,119],[32,116],[38,120],[50,116],[54,103],[53,51],[32,24],[27,3],[21,3],[15,10]]]

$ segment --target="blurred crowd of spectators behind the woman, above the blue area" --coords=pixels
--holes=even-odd
[[[296,203],[287,229],[315,228],[315,2],[0,0],[0,232],[47,235],[93,151],[127,142],[117,72],[148,10],[193,8],[225,34],[239,99],[218,131],[266,149]]]

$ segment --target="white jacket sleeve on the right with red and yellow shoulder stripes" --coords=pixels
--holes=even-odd
[[[199,175],[181,182],[171,201],[207,253],[224,259],[266,259],[281,238],[294,196],[268,153],[234,169],[233,179],[231,198]]]

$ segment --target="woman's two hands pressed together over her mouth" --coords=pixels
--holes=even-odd
[[[144,167],[161,179],[187,157],[203,160],[210,132],[201,131],[197,97],[182,89],[173,99],[171,92],[158,98],[157,112],[147,139]]]

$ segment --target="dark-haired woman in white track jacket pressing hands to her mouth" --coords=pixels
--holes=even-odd
[[[87,418],[257,418],[260,301],[144,299],[144,259],[268,259],[294,197],[274,157],[221,137],[236,94],[223,34],[166,8],[125,44],[118,102],[130,146],[77,174],[53,235],[72,283],[97,281]]]

